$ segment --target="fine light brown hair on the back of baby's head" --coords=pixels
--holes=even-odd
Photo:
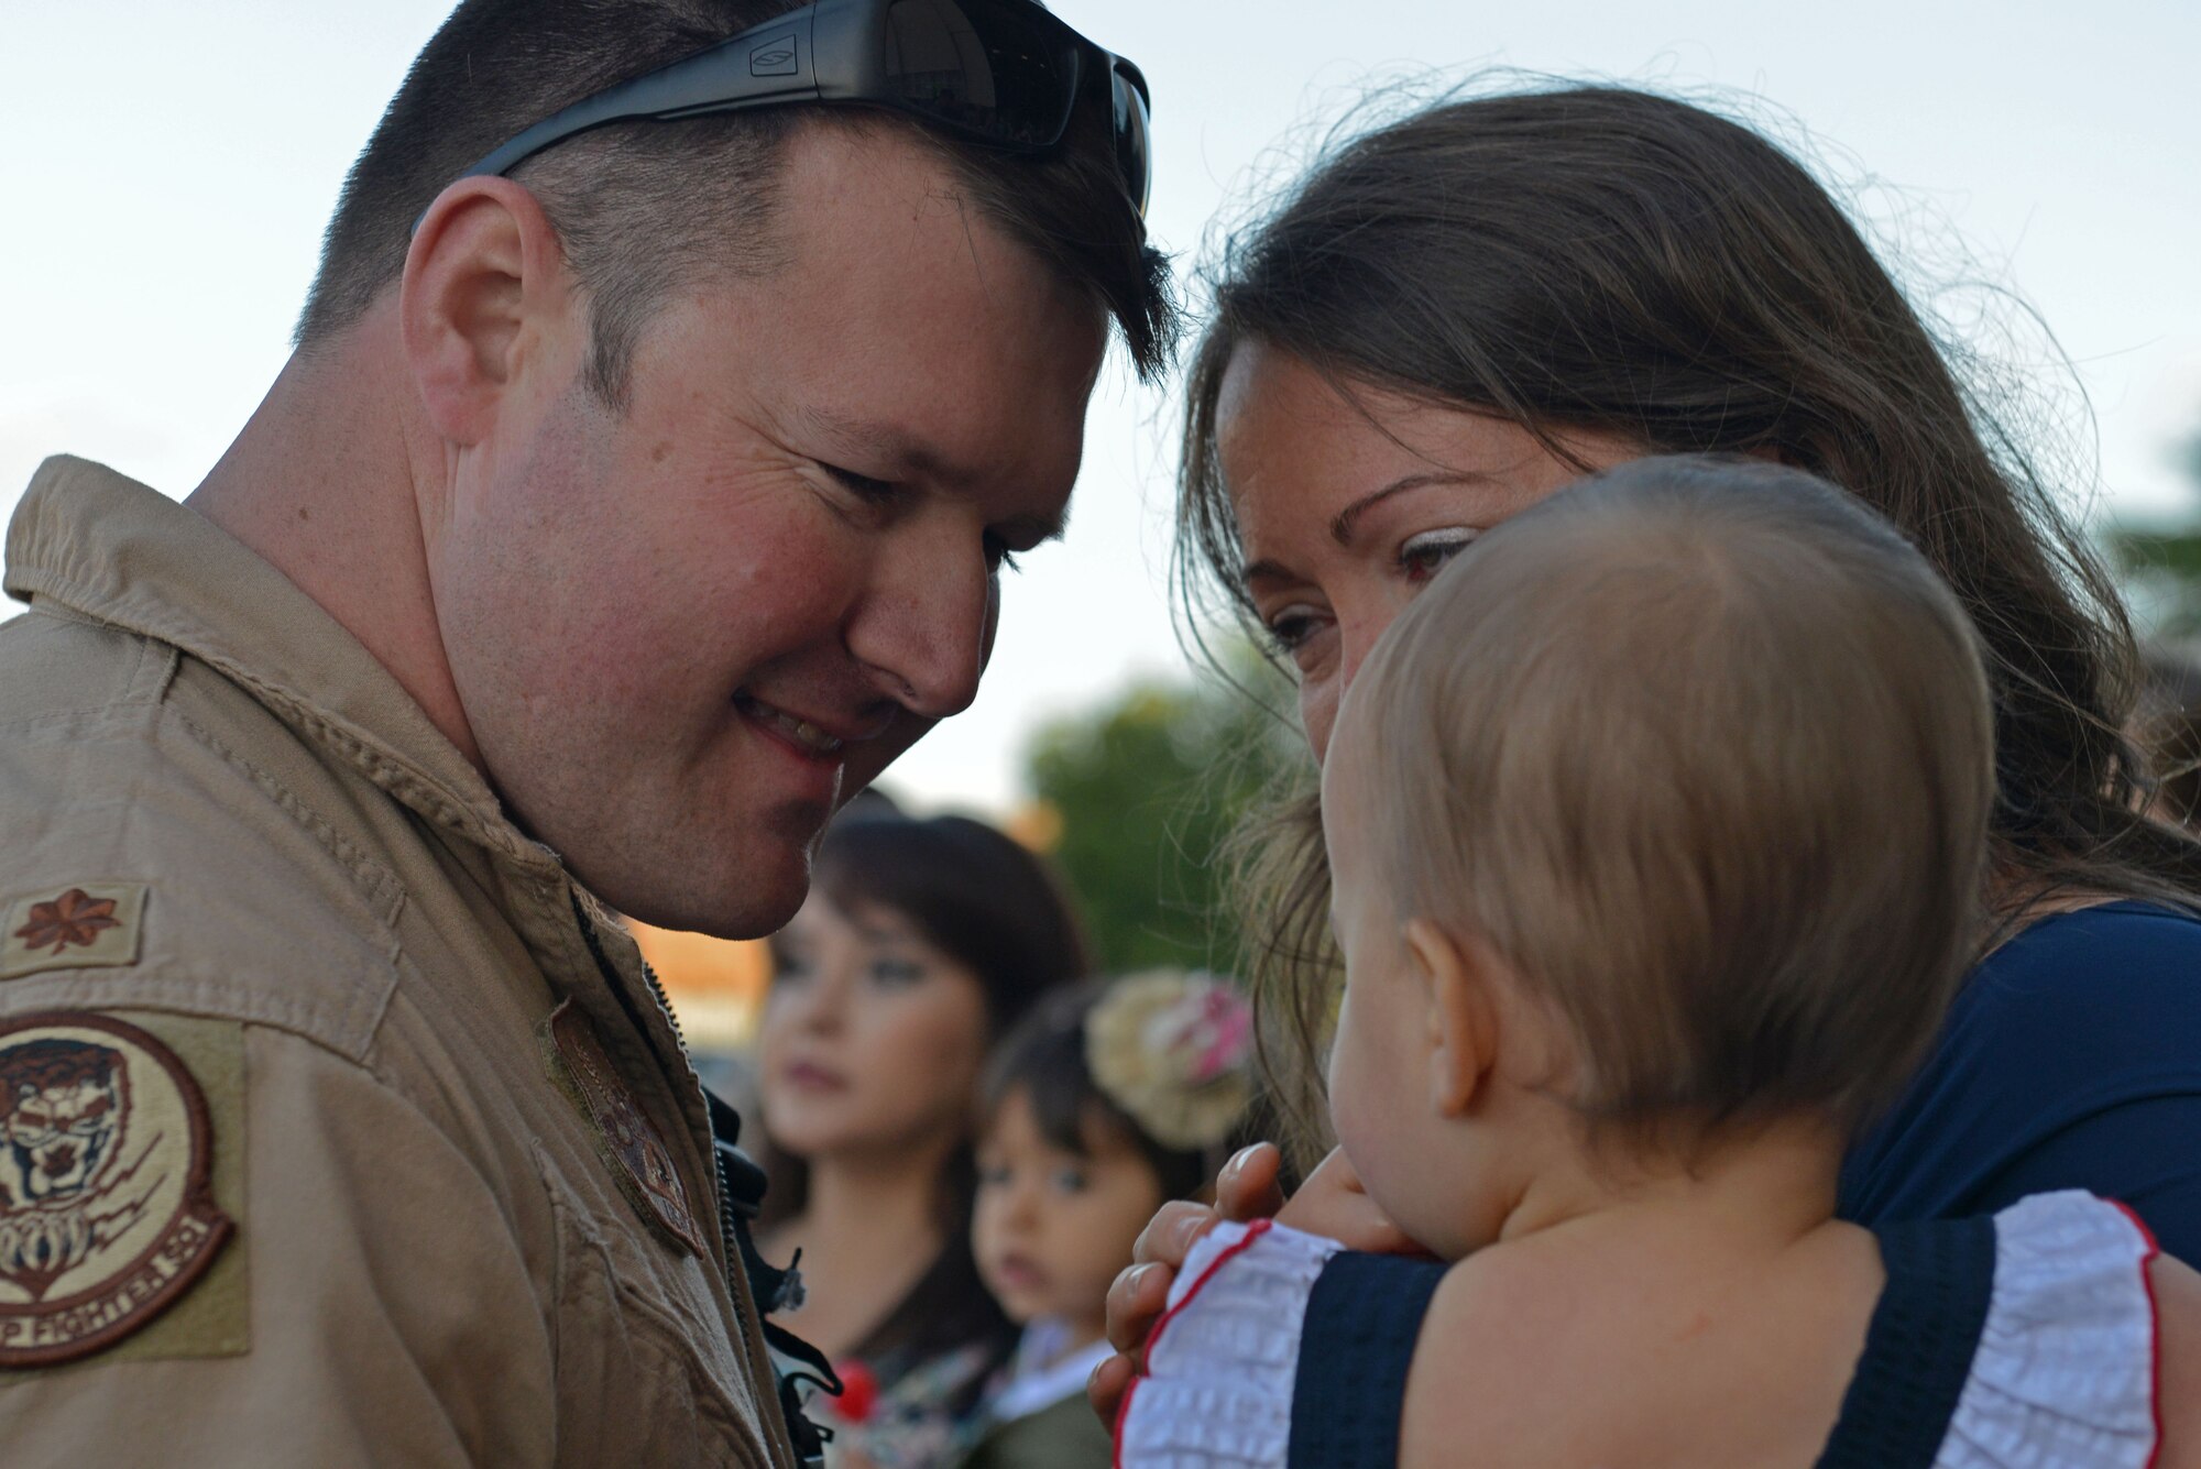
[[[1981,937],[1994,726],[1963,609],[1796,468],[1657,457],[1510,519],[1354,686],[1402,917],[1490,941],[1591,1122],[1855,1128]]]

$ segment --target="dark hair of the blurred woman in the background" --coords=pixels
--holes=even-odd
[[[988,1042],[1015,1027],[1048,992],[1087,974],[1085,932],[1067,888],[1012,838],[966,816],[911,820],[887,809],[845,811],[825,831],[812,886],[843,913],[891,908],[927,943],[977,976]],[[764,1227],[801,1212],[810,1168],[768,1141]],[[1015,1326],[986,1293],[971,1258],[971,1199],[977,1168],[962,1139],[940,1174],[940,1256],[909,1295],[854,1346],[876,1361],[889,1352],[929,1357],[971,1341],[1015,1344]],[[984,1385],[973,1381],[973,1392]]]

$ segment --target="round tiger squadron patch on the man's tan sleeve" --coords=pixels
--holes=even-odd
[[[86,1357],[176,1302],[233,1231],[211,1161],[198,1082],[139,1027],[0,1023],[0,1368]]]

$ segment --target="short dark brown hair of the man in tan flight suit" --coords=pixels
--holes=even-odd
[[[359,154],[321,244],[297,345],[365,314],[405,266],[412,227],[464,167],[519,130],[616,81],[656,70],[799,0],[462,0],[414,57]],[[1105,99],[1085,97],[1063,145],[1023,158],[957,143],[885,112],[764,108],[596,128],[519,165],[590,295],[590,385],[623,402],[640,328],[698,277],[773,268],[770,209],[781,141],[799,119],[836,117],[922,136],[971,205],[1032,248],[1118,323],[1140,376],[1169,358],[1175,308],[1167,259],[1118,180]]]

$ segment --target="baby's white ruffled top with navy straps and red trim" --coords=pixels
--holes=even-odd
[[[1992,1221],[1882,1229],[1880,1245],[1888,1286],[1820,1469],[2146,1469],[2153,1462],[2159,1425],[2146,1264],[2155,1240],[2131,1212],[2082,1192],[2036,1194]],[[1336,1436],[1310,1421],[1316,1396],[1323,1414],[1338,1412],[1334,1388],[1310,1379],[1338,1368],[1343,1337],[1327,1317],[1358,1315],[1365,1341],[1367,1282],[1389,1278],[1367,1273],[1351,1302],[1332,1291],[1327,1300],[1338,1304],[1325,1304],[1316,1286],[1340,1260],[1367,1256],[1268,1221],[1222,1225],[1202,1238],[1147,1344],[1147,1374],[1118,1416],[1116,1462],[1123,1469],[1389,1462],[1404,1401],[1402,1368],[1384,1372],[1395,1381],[1356,1385],[1356,1396],[1380,1399],[1365,1407],[1393,1425],[1389,1445],[1380,1434],[1356,1434],[1340,1449]],[[1398,1264],[1395,1278],[1409,1280],[1411,1262]],[[1435,1267],[1420,1267],[1428,1269]],[[1404,1289],[1415,1295],[1413,1315],[1402,1322],[1411,1333],[1426,1308],[1428,1275]],[[1963,1306],[1965,1297],[1974,1308]],[[1935,1379],[1948,1392],[1939,1399],[1917,1392]],[[1932,1421],[1919,1421],[1915,1407],[1908,1421],[1888,1421],[1891,1412],[1902,1416],[1897,1403],[1921,1396]],[[1316,1438],[1325,1440],[1318,1460],[1310,1458]],[[1340,1462],[1340,1451],[1354,1462]]]

